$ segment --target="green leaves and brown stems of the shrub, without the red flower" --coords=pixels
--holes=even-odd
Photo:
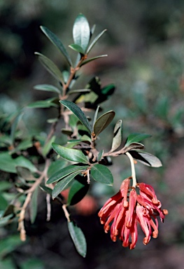
[[[73,43],[69,48],[76,53],[76,58],[70,56],[65,45],[48,28],[41,27],[43,34],[52,42],[64,57],[68,66],[67,70],[60,70],[47,56],[35,53],[43,67],[55,78],[55,85],[36,85],[35,90],[52,92],[55,97],[32,102],[27,107],[1,117],[2,135],[0,137],[0,169],[8,179],[13,174],[15,184],[13,196],[1,196],[0,225],[18,221],[18,230],[22,241],[26,240],[24,228],[25,212],[30,207],[30,221],[34,223],[38,212],[38,192],[44,191],[48,197],[48,221],[50,219],[50,197],[61,203],[68,222],[69,233],[78,253],[85,257],[87,247],[82,230],[76,225],[68,207],[82,200],[91,184],[99,182],[107,186],[113,185],[113,175],[108,169],[111,165],[109,158],[120,155],[132,156],[144,165],[160,167],[160,160],[144,151],[143,139],[150,135],[132,133],[125,142],[122,137],[122,120],[115,123],[108,142],[110,150],[99,150],[99,135],[105,138],[106,128],[111,125],[115,111],[107,111],[101,116],[99,104],[106,101],[115,90],[112,84],[101,88],[99,78],[91,78],[81,89],[76,89],[75,84],[80,77],[80,70],[89,62],[98,60],[106,55],[89,57],[94,45],[99,41],[106,30],[94,37],[94,27],[90,29],[89,22],[83,14],[78,15],[73,25]],[[87,68],[87,67],[86,67]],[[74,97],[73,97],[74,96]],[[143,100],[143,99],[142,99]],[[162,109],[159,113],[167,119],[167,100],[158,104]],[[141,105],[140,109],[146,106]],[[23,113],[26,109],[53,108],[57,117],[50,120],[50,131],[47,137],[41,135],[25,137],[21,132]],[[92,119],[91,119],[92,118]],[[59,144],[61,135],[57,127],[62,123],[62,135],[66,135],[67,143]],[[11,173],[11,174],[10,174]],[[93,181],[94,179],[94,181]],[[1,181],[2,190],[7,189],[7,181]],[[68,199],[65,201],[62,192],[69,189]],[[16,191],[15,191],[16,190]],[[14,194],[15,193],[15,194]],[[17,206],[20,205],[21,206]],[[52,213],[52,212],[51,212]]]

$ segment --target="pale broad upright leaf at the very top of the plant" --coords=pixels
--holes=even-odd
[[[73,41],[83,48],[84,52],[90,42],[90,25],[83,14],[79,14],[74,22]]]

